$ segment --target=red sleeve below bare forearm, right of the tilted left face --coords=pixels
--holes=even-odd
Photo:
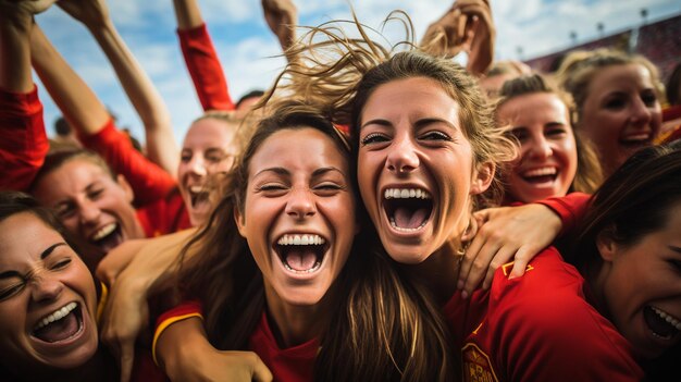
[[[175,180],[163,169],[137,151],[125,133],[113,121],[97,134],[78,135],[83,146],[98,152],[111,169],[125,176],[135,192],[135,206],[145,206],[164,198],[175,186]]]

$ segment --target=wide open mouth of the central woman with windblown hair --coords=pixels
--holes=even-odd
[[[431,194],[421,188],[387,188],[383,208],[397,231],[413,232],[425,226],[433,212]]]

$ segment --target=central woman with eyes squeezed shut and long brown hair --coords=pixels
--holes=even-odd
[[[181,269],[211,344],[256,352],[282,381],[451,379],[428,294],[352,245],[360,218],[342,134],[318,109],[273,108],[186,249],[200,256]]]

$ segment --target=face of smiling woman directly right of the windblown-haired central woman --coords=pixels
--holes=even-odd
[[[520,143],[519,159],[506,177],[511,198],[531,202],[565,196],[577,173],[577,144],[560,98],[549,93],[515,97],[498,108],[497,115]],[[537,178],[540,171],[553,178]]]

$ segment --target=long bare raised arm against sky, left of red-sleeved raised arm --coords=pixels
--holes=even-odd
[[[115,28],[104,0],[60,0],[66,13],[82,22],[111,62],[121,85],[145,125],[147,157],[170,174],[177,171],[179,149],[170,112]]]

